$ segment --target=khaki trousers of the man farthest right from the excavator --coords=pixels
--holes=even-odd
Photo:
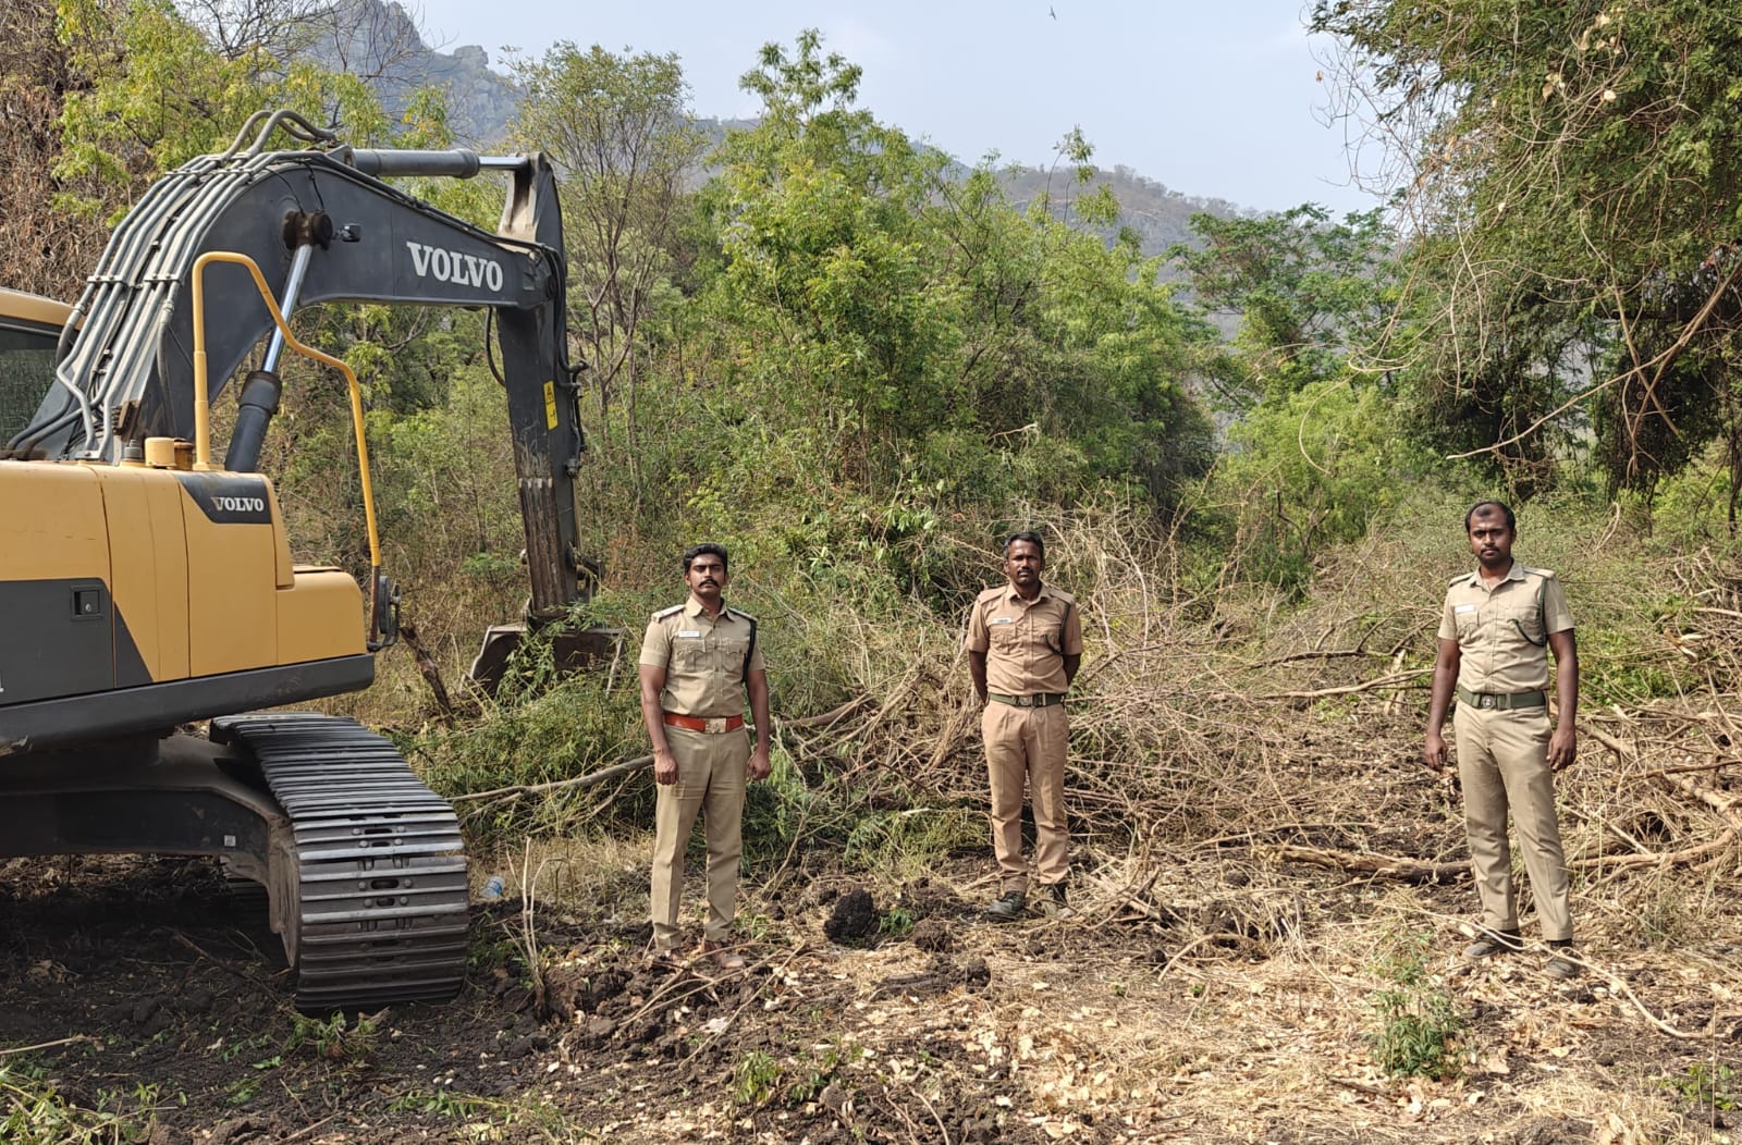
[[[1482,900],[1482,926],[1489,931],[1519,927],[1507,846],[1510,807],[1542,936],[1549,941],[1571,938],[1566,858],[1554,818],[1554,773],[1549,769],[1549,710],[1491,712],[1460,703],[1455,727],[1463,825],[1475,867],[1475,893]]]

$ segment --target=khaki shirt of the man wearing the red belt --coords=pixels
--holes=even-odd
[[[678,715],[714,719],[744,713],[744,653],[751,646],[751,616],[730,606],[712,618],[702,602],[653,613],[641,639],[641,663],[665,668],[665,687],[658,706]],[[749,672],[765,672],[761,633],[749,653]]]

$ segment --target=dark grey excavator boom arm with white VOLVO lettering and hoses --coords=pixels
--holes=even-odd
[[[381,181],[483,169],[512,176],[495,235]],[[573,489],[584,439],[568,364],[563,219],[544,155],[232,150],[190,162],[115,230],[73,308],[78,334],[56,386],[9,456],[118,461],[129,442],[193,437],[190,280],[209,251],[246,254],[282,282],[286,313],[326,301],[491,308],[531,614],[559,616],[585,595]],[[226,284],[230,275],[237,280]],[[209,277],[206,355],[216,398],[272,332],[272,318],[242,282],[246,271],[225,266]]]

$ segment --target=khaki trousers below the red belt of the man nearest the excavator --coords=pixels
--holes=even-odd
[[[751,757],[746,731],[707,734],[665,727],[678,760],[678,781],[658,785],[653,813],[653,947],[678,945],[683,860],[700,811],[707,835],[707,927],[712,941],[732,938],[737,917],[739,856],[744,853],[744,771]]]

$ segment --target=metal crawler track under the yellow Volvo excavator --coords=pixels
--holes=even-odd
[[[291,823],[294,861],[268,887],[294,927],[296,1008],[307,1013],[444,1001],[465,978],[465,851],[453,807],[354,720],[230,715],[211,738],[260,764]]]

